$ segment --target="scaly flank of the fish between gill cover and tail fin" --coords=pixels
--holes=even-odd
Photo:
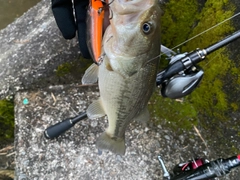
[[[153,83],[155,83],[157,66],[156,63],[149,63],[146,66],[148,68],[142,68],[140,72],[129,77],[127,80],[119,74],[111,71],[108,72],[106,68],[102,68],[104,66],[101,66],[99,69],[99,74],[103,75],[99,76],[100,92],[102,92],[106,84],[109,87],[108,90],[101,93],[100,99],[108,115],[109,127],[114,127],[114,130],[112,130],[112,128],[107,128],[106,130],[112,138],[118,137],[123,139],[125,137],[126,127],[147,106],[153,88],[146,87],[154,86]],[[151,70],[149,71],[149,69]],[[113,74],[110,75],[109,73]],[[118,79],[117,83],[114,79]],[[103,82],[101,80],[103,80]],[[137,83],[133,83],[134,81]],[[103,85],[103,87],[101,85]],[[143,91],[143,89],[145,90]],[[110,94],[110,92],[112,92],[112,94]]]

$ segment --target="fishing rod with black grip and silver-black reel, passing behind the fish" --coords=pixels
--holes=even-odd
[[[162,86],[162,95],[176,99],[190,94],[200,83],[203,76],[203,71],[198,70],[196,65],[203,61],[208,54],[237,40],[239,37],[240,31],[237,31],[205,49],[197,49],[190,53],[172,56],[168,67],[157,74],[156,84]],[[47,139],[57,138],[85,118],[87,118],[87,113],[82,112],[76,117],[65,119],[48,127],[44,131],[44,135]]]

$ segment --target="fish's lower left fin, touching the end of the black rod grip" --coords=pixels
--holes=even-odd
[[[93,103],[90,104],[89,107],[87,108],[87,116],[89,119],[95,119],[103,117],[105,115],[106,113],[102,108],[102,103],[100,99],[93,101]]]

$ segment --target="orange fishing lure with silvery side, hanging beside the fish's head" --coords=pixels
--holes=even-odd
[[[89,0],[87,17],[87,45],[96,64],[101,63],[101,47],[104,26],[104,6],[106,1]]]

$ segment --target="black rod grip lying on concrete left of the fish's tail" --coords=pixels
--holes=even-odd
[[[62,122],[59,122],[55,125],[48,127],[44,131],[44,136],[47,139],[54,139],[54,138],[60,136],[61,134],[63,134],[64,132],[66,132],[67,130],[69,130],[77,122],[81,121],[82,119],[84,119],[86,117],[87,117],[87,114],[86,114],[86,112],[84,112],[74,118],[65,119]]]

